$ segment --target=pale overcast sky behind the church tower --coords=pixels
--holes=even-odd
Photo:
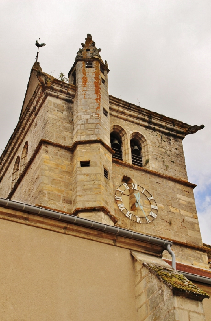
[[[203,242],[211,244],[211,1],[0,0],[0,150],[18,122],[40,38],[44,72],[68,74],[87,33],[109,93],[205,128],[183,140]]]

